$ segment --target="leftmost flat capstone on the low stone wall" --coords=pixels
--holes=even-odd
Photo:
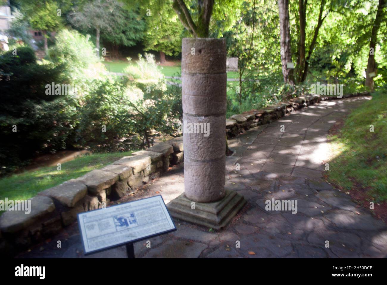
[[[36,196],[31,200],[31,212],[6,211],[0,217],[0,230],[3,233],[17,232],[45,217],[55,210],[54,201],[46,196]]]

